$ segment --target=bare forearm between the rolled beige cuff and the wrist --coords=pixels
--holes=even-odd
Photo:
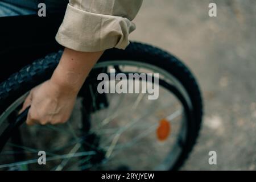
[[[79,52],[65,48],[51,81],[63,88],[63,92],[78,93],[103,52]]]

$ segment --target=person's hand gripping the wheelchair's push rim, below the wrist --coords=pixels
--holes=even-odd
[[[72,113],[76,97],[77,92],[74,90],[63,88],[48,80],[30,91],[20,113],[31,106],[28,110],[27,125],[65,123]]]

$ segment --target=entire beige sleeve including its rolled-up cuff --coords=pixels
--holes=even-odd
[[[143,0],[69,0],[56,40],[82,52],[125,49]]]

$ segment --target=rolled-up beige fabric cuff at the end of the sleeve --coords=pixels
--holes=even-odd
[[[121,16],[89,13],[68,4],[56,41],[64,47],[82,52],[109,48],[125,49],[135,24]]]

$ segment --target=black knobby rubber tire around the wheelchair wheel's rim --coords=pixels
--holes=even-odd
[[[51,53],[43,59],[34,61],[0,84],[0,115],[23,94],[51,77],[62,52]],[[170,53],[141,43],[131,42],[125,50],[109,49],[99,61],[106,60],[134,60],[152,64],[171,73],[184,86],[192,102],[193,121],[189,124],[183,151],[172,168],[172,170],[179,169],[196,143],[203,116],[203,101],[195,77],[181,61]]]

